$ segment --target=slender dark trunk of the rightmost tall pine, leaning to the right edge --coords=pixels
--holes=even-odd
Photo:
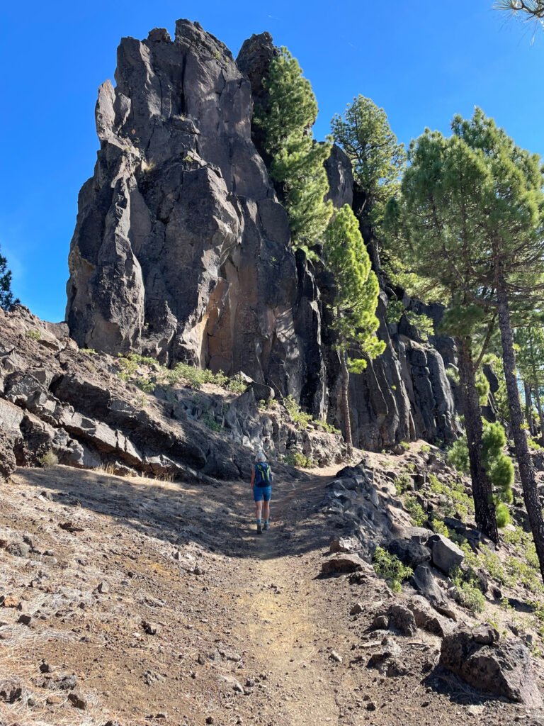
[[[540,574],[544,580],[544,518],[540,501],[538,499],[535,470],[532,466],[531,454],[527,436],[523,428],[522,404],[519,401],[518,384],[516,380],[516,359],[514,357],[514,338],[508,309],[506,282],[502,275],[498,276],[497,286],[498,322],[500,328],[500,342],[503,346],[504,378],[508,394],[508,408],[510,409],[510,423],[514,445],[516,446],[516,459],[519,465],[519,477],[522,480],[525,509],[529,517],[532,539],[535,541]],[[540,397],[540,396],[539,396]]]

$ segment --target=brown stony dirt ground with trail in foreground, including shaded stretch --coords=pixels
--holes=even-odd
[[[335,471],[274,483],[257,536],[249,482],[17,470],[0,537],[30,552],[0,549],[0,653],[22,696],[0,702],[0,724],[543,724],[437,671],[425,632],[391,634],[397,677],[366,667],[391,594],[374,576],[320,576],[342,534],[321,507]]]

